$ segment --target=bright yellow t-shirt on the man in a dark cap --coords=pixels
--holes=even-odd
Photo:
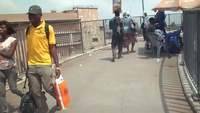
[[[49,39],[45,33],[45,21],[37,26],[30,26],[27,34],[28,65],[51,65],[49,44],[56,44],[55,32],[49,25]],[[49,41],[49,42],[48,42]]]

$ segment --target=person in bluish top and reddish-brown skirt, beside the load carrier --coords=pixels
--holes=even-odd
[[[123,14],[123,25],[124,25],[124,46],[127,48],[129,53],[129,45],[131,43],[131,51],[134,52],[134,46],[136,42],[136,24],[128,13]]]

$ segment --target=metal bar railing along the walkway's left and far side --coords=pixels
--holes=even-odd
[[[167,15],[167,24],[170,29],[181,24],[182,14]],[[151,17],[151,16],[150,16]],[[133,17],[137,23],[140,33],[142,17]],[[60,60],[81,54],[94,49],[96,47],[108,45],[111,43],[112,32],[109,29],[110,19],[92,20],[92,21],[49,21],[48,23],[54,27],[58,57]],[[17,33],[14,36],[19,40],[17,51],[15,54],[16,67],[19,75],[25,72],[26,68],[26,46],[25,31],[28,26],[27,22],[13,23]]]

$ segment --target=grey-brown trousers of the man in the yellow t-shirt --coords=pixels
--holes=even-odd
[[[55,98],[52,84],[52,74],[53,71],[51,66],[29,66],[29,89],[36,103],[37,113],[49,112],[46,98],[42,92],[42,87],[47,93]]]

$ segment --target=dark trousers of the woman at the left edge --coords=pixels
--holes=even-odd
[[[12,93],[22,97],[23,93],[17,89],[17,73],[15,68],[0,70],[0,113],[8,113],[8,103],[6,101],[6,80]]]

